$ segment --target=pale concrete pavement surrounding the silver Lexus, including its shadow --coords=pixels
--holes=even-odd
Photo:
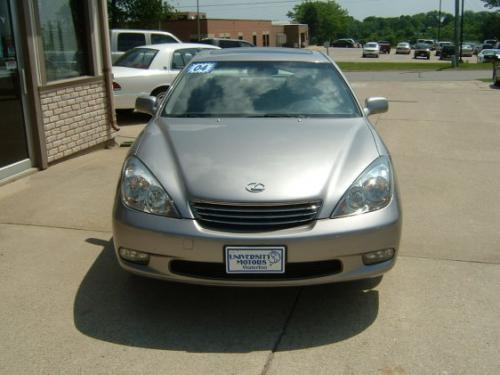
[[[127,148],[0,187],[2,374],[500,373],[500,90],[480,81],[354,80],[404,211],[378,285],[236,289],[130,276],[111,207]],[[117,141],[146,118],[120,118]]]

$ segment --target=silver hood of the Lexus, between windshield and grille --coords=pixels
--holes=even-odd
[[[321,200],[330,214],[379,156],[374,137],[363,117],[160,118],[146,127],[135,152],[184,214],[192,200]],[[250,183],[265,190],[248,192]]]

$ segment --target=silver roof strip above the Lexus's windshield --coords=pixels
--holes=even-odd
[[[321,52],[297,48],[242,47],[197,54],[193,61],[304,61],[329,62]]]

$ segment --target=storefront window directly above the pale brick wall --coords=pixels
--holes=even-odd
[[[47,82],[92,74],[87,4],[37,0]]]

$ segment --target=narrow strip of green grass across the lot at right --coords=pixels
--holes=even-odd
[[[439,70],[490,70],[491,63],[462,63],[455,69],[451,62],[351,62],[339,61],[337,65],[344,72],[385,72],[385,71],[439,71]]]

